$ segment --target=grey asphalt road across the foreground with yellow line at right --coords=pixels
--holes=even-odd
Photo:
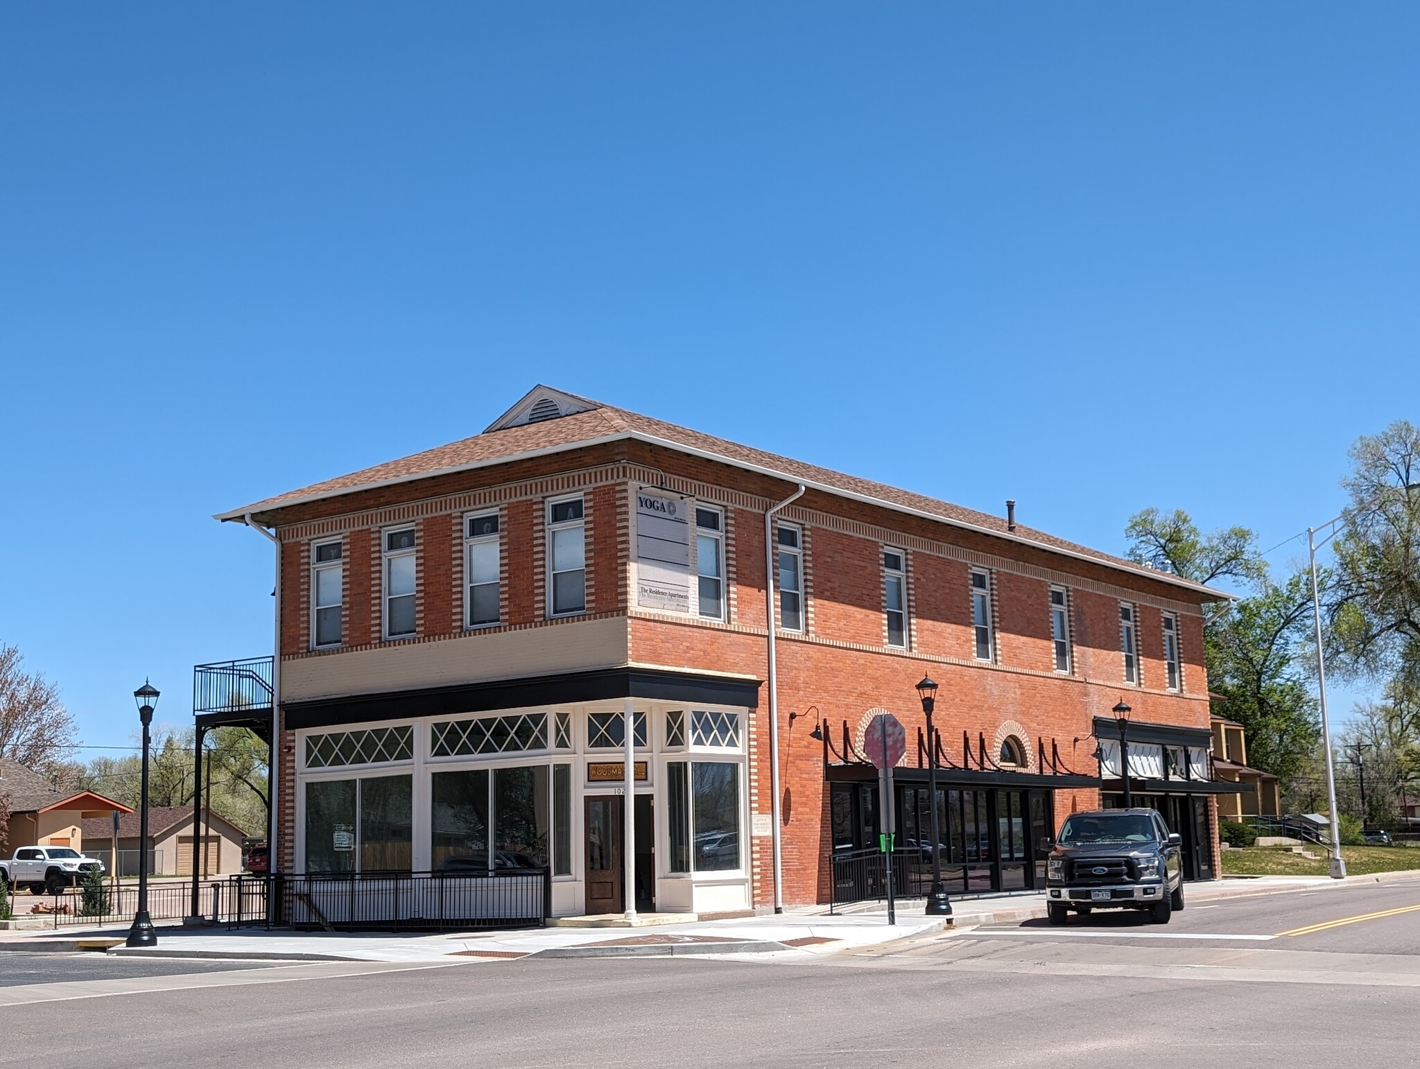
[[[0,1065],[33,1063],[55,1032],[64,1060],[105,1066],[1420,1065],[1420,909],[1409,907],[1420,880],[1197,903],[1169,926],[1095,914],[792,964],[55,974],[0,989],[70,999],[0,1008]]]

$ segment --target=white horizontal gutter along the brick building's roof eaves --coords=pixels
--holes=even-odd
[[[748,460],[736,460],[727,457],[723,453],[716,453],[709,449],[696,449],[694,446],[686,446],[680,442],[673,442],[670,439],[657,437],[655,434],[646,434],[639,430],[619,430],[612,434],[602,434],[595,439],[582,439],[579,442],[568,442],[561,446],[547,446],[545,449],[531,449],[524,453],[510,453],[508,456],[491,457],[488,460],[476,460],[470,464],[452,464],[449,467],[435,468],[433,471],[420,471],[417,474],[409,476],[395,476],[392,478],[379,478],[371,483],[362,483],[354,487],[342,487],[339,490],[327,490],[314,494],[302,494],[300,497],[293,497],[290,500],[280,501],[278,504],[271,504],[268,508],[261,508],[260,511],[274,511],[277,508],[293,508],[295,505],[310,504],[311,501],[324,501],[332,497],[342,497],[345,494],[358,494],[364,490],[376,490],[381,487],[399,486],[400,483],[415,483],[422,478],[436,478],[439,476],[449,476],[459,471],[476,471],[484,467],[494,467],[497,464],[511,464],[520,460],[532,460],[537,457],[555,456],[558,453],[567,453],[574,449],[588,449],[591,446],[604,446],[611,442],[645,442],[648,446],[660,446],[662,449],[670,449],[676,453],[684,453],[687,456],[700,457],[701,460],[711,460],[717,464],[727,464],[730,467],[737,467],[741,471],[754,471],[755,474],[768,476],[770,478],[778,478],[785,483],[797,483],[805,487],[805,490],[819,490],[825,494],[832,494],[834,497],[842,497],[849,501],[859,501],[862,504],[873,505],[876,508],[886,508],[892,512],[900,512],[903,515],[912,515],[922,520],[927,520],[934,524],[946,524],[947,527],[956,527],[961,531],[973,531],[976,534],[983,534],[990,538],[1000,538],[1007,542],[1015,542],[1017,545],[1028,545],[1034,549],[1042,549],[1049,554],[1058,554],[1061,557],[1068,557],[1075,561],[1082,561],[1085,564],[1092,564],[1103,568],[1113,568],[1116,571],[1130,572],[1133,575],[1142,575],[1147,579],[1166,583],[1169,586],[1179,586],[1186,591],[1193,591],[1194,593],[1206,593],[1211,601],[1230,601],[1234,595],[1224,591],[1216,591],[1211,586],[1203,583],[1196,583],[1190,579],[1183,579],[1172,572],[1159,572],[1152,568],[1135,566],[1130,568],[1127,562],[1112,562],[1100,561],[1098,557],[1091,557],[1088,554],[1075,552],[1074,549],[1066,549],[1058,545],[1049,545],[1047,542],[1037,542],[1032,538],[1027,538],[1014,531],[995,531],[990,527],[981,527],[980,524],[971,524],[966,520],[954,520],[951,517],[939,515],[936,512],[929,512],[923,508],[913,508],[912,505],[902,505],[895,501],[886,501],[880,497],[873,497],[872,494],[859,494],[852,490],[842,490],[839,487],[828,486],[826,483],[818,483],[812,478],[802,478],[799,476],[791,476],[785,471],[780,471],[764,464],[754,464]],[[258,503],[260,504],[260,503]],[[237,521],[241,522],[247,517],[251,517],[257,508],[254,505],[246,505],[243,508],[234,508],[230,512],[217,512],[213,518],[222,521]]]

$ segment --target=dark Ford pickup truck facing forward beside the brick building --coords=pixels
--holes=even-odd
[[[1044,842],[1045,913],[1064,924],[1069,910],[1146,910],[1167,924],[1183,909],[1183,839],[1153,809],[1071,813],[1055,843]]]

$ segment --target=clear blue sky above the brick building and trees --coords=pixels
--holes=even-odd
[[[185,721],[270,650],[213,512],[540,380],[1271,547],[1420,419],[1417,48],[1413,3],[9,4],[0,639],[88,744],[145,676]]]

